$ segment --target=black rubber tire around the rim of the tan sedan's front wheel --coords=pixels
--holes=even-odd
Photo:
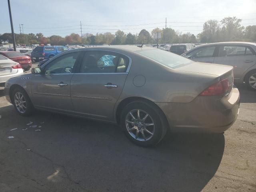
[[[16,102],[15,102],[15,94],[16,93],[21,93],[22,96],[24,96],[24,100],[26,101],[26,110],[24,112],[21,112],[18,107],[16,106]],[[28,94],[26,93],[26,91],[22,88],[15,88],[12,91],[12,103],[14,105],[15,110],[18,112],[18,114],[22,115],[22,116],[30,116],[33,112],[34,112],[34,106],[28,96]]]

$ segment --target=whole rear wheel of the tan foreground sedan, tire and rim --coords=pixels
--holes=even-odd
[[[166,134],[166,123],[160,109],[144,101],[124,107],[120,123],[126,136],[139,146],[152,146]]]

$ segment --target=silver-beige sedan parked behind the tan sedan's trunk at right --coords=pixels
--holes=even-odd
[[[201,45],[182,56],[198,62],[234,67],[234,81],[245,82],[256,91],[256,44],[250,42],[220,42]]]

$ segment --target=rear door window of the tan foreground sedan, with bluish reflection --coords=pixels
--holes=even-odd
[[[129,59],[122,54],[108,51],[88,51],[84,55],[80,73],[123,73]]]

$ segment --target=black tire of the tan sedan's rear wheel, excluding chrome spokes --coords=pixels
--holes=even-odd
[[[143,124],[142,125],[140,124],[140,126],[142,126],[141,128],[144,128],[144,130],[140,130],[140,131],[142,131],[142,132],[144,132],[144,134],[148,135],[148,140],[138,140],[138,139],[143,139],[142,132],[138,133],[138,136],[140,136],[141,138],[138,137],[137,139],[134,138],[134,136],[132,136],[130,134],[130,132],[128,132],[128,130],[126,128],[126,123],[127,123],[126,117],[128,117],[129,112],[131,112],[133,110],[140,110],[142,113],[146,112],[149,115],[148,118],[150,118],[150,120],[153,120],[154,134],[152,136],[150,134],[147,134],[147,132],[145,131],[145,128],[149,129],[148,127],[145,126],[146,121],[144,122],[145,127],[143,127]],[[142,117],[140,117],[140,119],[142,119],[144,117],[144,115],[140,114],[140,116],[142,116]],[[138,116],[137,116],[137,118],[138,118]],[[122,130],[124,131],[124,134],[128,137],[129,140],[131,140],[133,143],[135,143],[139,146],[148,147],[148,146],[156,145],[156,144],[158,144],[158,142],[160,142],[160,140],[162,140],[162,138],[166,134],[168,123],[166,122],[164,113],[157,106],[154,106],[154,104],[151,104],[150,102],[138,100],[138,101],[134,101],[134,102],[127,104],[123,108],[122,113],[121,113],[121,118],[120,118],[120,125],[121,125]],[[136,125],[135,123],[130,124],[128,126],[136,127],[136,130],[134,130],[135,134],[136,134],[137,130],[139,129],[139,125],[138,124]],[[150,132],[153,132],[153,131],[150,130]],[[132,134],[133,134],[133,132],[132,132]],[[151,138],[150,138],[150,136],[151,136]]]

